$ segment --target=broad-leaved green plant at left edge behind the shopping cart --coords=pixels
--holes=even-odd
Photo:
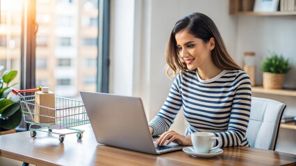
[[[4,66],[0,65],[0,72]],[[13,89],[10,82],[17,76],[17,71],[4,71],[0,77],[0,131],[15,129],[22,120],[19,98],[8,94]]]

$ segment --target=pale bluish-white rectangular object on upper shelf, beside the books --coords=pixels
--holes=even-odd
[[[276,12],[279,0],[256,0],[254,12]]]

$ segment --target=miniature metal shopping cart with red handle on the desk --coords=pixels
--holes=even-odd
[[[13,93],[19,96],[24,121],[30,124],[31,137],[36,136],[36,131],[58,134],[60,142],[63,142],[65,135],[70,133],[76,133],[78,139],[83,137],[83,130],[70,128],[89,123],[82,101],[55,97],[55,108],[44,107],[35,104],[35,95],[24,96],[20,94],[33,91],[41,91],[41,89],[20,91],[13,89]],[[40,128],[35,129],[34,127],[33,129],[33,126]],[[66,129],[68,132],[61,133],[53,129]]]

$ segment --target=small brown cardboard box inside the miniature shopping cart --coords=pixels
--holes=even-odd
[[[56,117],[56,98],[53,92],[44,93],[42,91],[35,92],[35,109],[34,120],[40,123],[55,122]],[[49,107],[49,108],[44,108]],[[49,116],[49,117],[47,117]]]

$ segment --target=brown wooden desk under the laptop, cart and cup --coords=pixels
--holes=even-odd
[[[66,135],[60,143],[58,135],[29,132],[0,136],[0,156],[35,165],[295,165],[293,154],[250,147],[223,148],[223,154],[213,158],[193,158],[183,151],[158,156],[97,144],[90,124],[82,140],[76,134]],[[0,163],[1,165],[1,163]]]

